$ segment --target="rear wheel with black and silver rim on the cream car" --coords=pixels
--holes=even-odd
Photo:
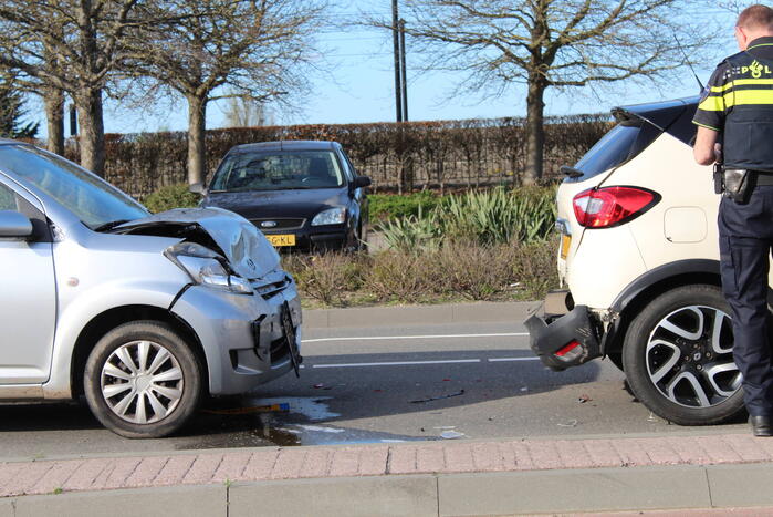
[[[623,347],[636,397],[680,425],[719,424],[743,413],[729,314],[720,288],[710,285],[679,287],[647,304]]]

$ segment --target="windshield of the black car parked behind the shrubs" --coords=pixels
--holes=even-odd
[[[211,192],[334,188],[344,183],[332,151],[262,151],[226,157]]]

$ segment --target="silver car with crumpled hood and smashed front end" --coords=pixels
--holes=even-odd
[[[0,401],[84,395],[127,437],[297,368],[295,282],[217,208],[150,215],[97,176],[0,141]]]

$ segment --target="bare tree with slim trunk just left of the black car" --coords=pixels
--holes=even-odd
[[[234,95],[281,101],[303,89],[303,68],[313,58],[312,24],[322,6],[316,0],[155,0],[154,9],[154,18],[178,21],[138,32],[124,70],[186,99],[188,180],[201,183],[207,104]]]

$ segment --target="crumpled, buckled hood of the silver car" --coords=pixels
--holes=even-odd
[[[219,248],[215,251],[222,254],[233,271],[247,279],[261,278],[280,263],[279,254],[254,225],[222,208],[175,208],[125,223],[114,231],[180,237],[208,247],[213,242]],[[201,234],[212,242],[206,242]]]

